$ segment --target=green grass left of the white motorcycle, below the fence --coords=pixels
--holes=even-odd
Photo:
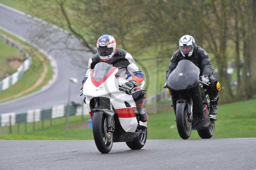
[[[52,127],[50,127],[50,120],[44,120],[44,128],[42,129],[42,122],[36,122],[35,123],[35,131],[33,131],[33,123],[27,124],[27,133],[25,134],[25,124],[20,124],[20,133],[19,135],[24,139],[27,139],[27,135],[30,136],[29,138],[36,137],[35,139],[40,140],[40,137],[43,139],[46,138],[56,138],[63,140],[69,139],[69,140],[86,140],[86,139],[93,139],[92,135],[92,129],[89,128],[73,128],[73,126],[76,126],[78,124],[87,124],[87,121],[90,119],[90,116],[86,115],[84,116],[84,119],[82,119],[82,116],[70,116],[69,117],[69,125],[70,128],[68,130],[68,138],[66,137],[66,118],[56,118],[52,119]],[[1,131],[0,131],[1,132]],[[9,135],[9,127],[5,128],[5,135],[2,135],[0,139],[16,139],[16,135],[18,134],[18,125],[12,126],[12,135]],[[1,135],[0,135],[1,136]],[[13,138],[12,138],[13,137]]]

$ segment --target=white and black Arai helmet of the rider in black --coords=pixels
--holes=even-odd
[[[191,35],[184,35],[179,41],[180,52],[184,57],[190,57],[195,47],[195,39]]]

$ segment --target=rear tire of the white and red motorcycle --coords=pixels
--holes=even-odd
[[[132,150],[139,150],[143,148],[147,141],[148,128],[145,128],[144,132],[141,132],[132,142],[126,142],[127,146]]]

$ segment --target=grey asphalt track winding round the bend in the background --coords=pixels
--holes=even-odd
[[[58,65],[57,79],[48,89],[22,100],[0,104],[0,113],[25,112],[30,109],[66,104],[70,77],[78,79],[78,82],[71,87],[71,101],[82,104],[82,97],[79,96],[80,88],[92,53],[86,52],[78,39],[46,22],[32,19],[2,6],[0,6],[0,26],[46,51]],[[65,50],[66,47],[69,50]]]

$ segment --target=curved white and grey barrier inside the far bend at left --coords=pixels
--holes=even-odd
[[[23,50],[22,47],[20,47],[19,45],[15,44],[14,42],[12,42],[9,39],[6,39],[4,36],[0,35],[1,38],[3,38],[4,42],[10,46],[12,46],[13,48],[16,48],[18,50],[20,50],[20,52],[27,58],[22,65],[20,65],[20,67],[17,69],[17,72],[13,73],[12,75],[6,77],[5,79],[3,79],[2,81],[0,81],[0,92],[4,91],[5,89],[8,89],[9,87],[11,87],[13,84],[17,83],[22,75],[29,69],[29,67],[32,64],[32,57],[29,56],[29,54]]]

